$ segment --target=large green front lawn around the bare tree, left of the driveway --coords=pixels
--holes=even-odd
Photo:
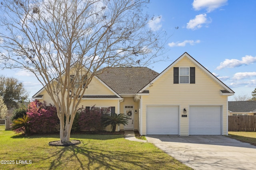
[[[71,135],[81,144],[70,147],[48,146],[58,141],[58,135],[21,136],[0,126],[1,160],[14,164],[0,164],[5,170],[191,170],[151,143],[128,141],[123,135]],[[27,160],[28,164],[16,164]],[[29,160],[32,161],[29,164]]]

